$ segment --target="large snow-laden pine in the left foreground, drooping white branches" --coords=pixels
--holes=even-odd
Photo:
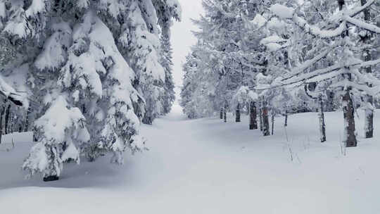
[[[134,89],[141,71],[132,70],[136,58],[129,57],[124,47],[141,45],[146,51],[139,55],[141,67],[160,76],[155,50],[159,48],[157,23],[163,20],[156,12],[179,11],[179,4],[154,3],[0,1],[0,11],[5,11],[1,35],[16,53],[1,72],[8,78],[18,75],[24,91],[40,103],[33,109],[38,118],[34,122],[37,144],[23,165],[30,175],[41,172],[44,180],[56,180],[65,160],[79,163],[80,154],[94,160],[111,152],[111,161],[122,163],[124,151],[144,148],[139,135],[144,98]],[[156,41],[154,49],[151,41]]]

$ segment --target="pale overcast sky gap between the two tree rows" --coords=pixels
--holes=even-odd
[[[182,86],[182,63],[190,51],[190,46],[196,43],[196,38],[191,30],[197,27],[191,23],[190,18],[196,19],[203,13],[201,0],[179,0],[182,6],[182,22],[175,23],[172,27],[172,48],[173,48],[173,78],[177,87]],[[179,90],[176,90],[177,98]]]

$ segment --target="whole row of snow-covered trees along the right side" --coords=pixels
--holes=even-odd
[[[357,146],[355,111],[365,111],[365,137],[374,133],[379,106],[379,1],[204,0],[194,20],[198,42],[184,63],[181,106],[189,118],[227,112],[250,129],[270,130],[270,119],[343,109],[346,146]]]

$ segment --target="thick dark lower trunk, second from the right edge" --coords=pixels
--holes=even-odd
[[[354,118],[354,108],[353,99],[350,96],[350,87],[346,89],[343,96],[343,117],[344,117],[344,139],[346,147],[357,146],[356,136],[355,136],[355,118]]]

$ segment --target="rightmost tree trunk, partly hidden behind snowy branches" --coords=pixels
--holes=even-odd
[[[367,4],[367,0],[361,0],[362,6]],[[364,11],[364,19],[365,21],[369,21],[371,19],[371,13],[369,12],[369,8],[366,8]],[[371,32],[367,32],[363,39],[364,43],[369,43],[371,41],[372,34]],[[371,56],[371,51],[369,49],[366,49],[363,53],[364,60],[365,61],[371,61],[372,56]],[[372,68],[371,66],[367,66],[365,68],[367,73],[372,73]],[[368,85],[369,87],[372,87],[372,84]],[[367,106],[365,108],[365,138],[372,138],[374,137],[374,108],[373,108],[373,103],[374,103],[374,98],[371,95],[367,95]]]

